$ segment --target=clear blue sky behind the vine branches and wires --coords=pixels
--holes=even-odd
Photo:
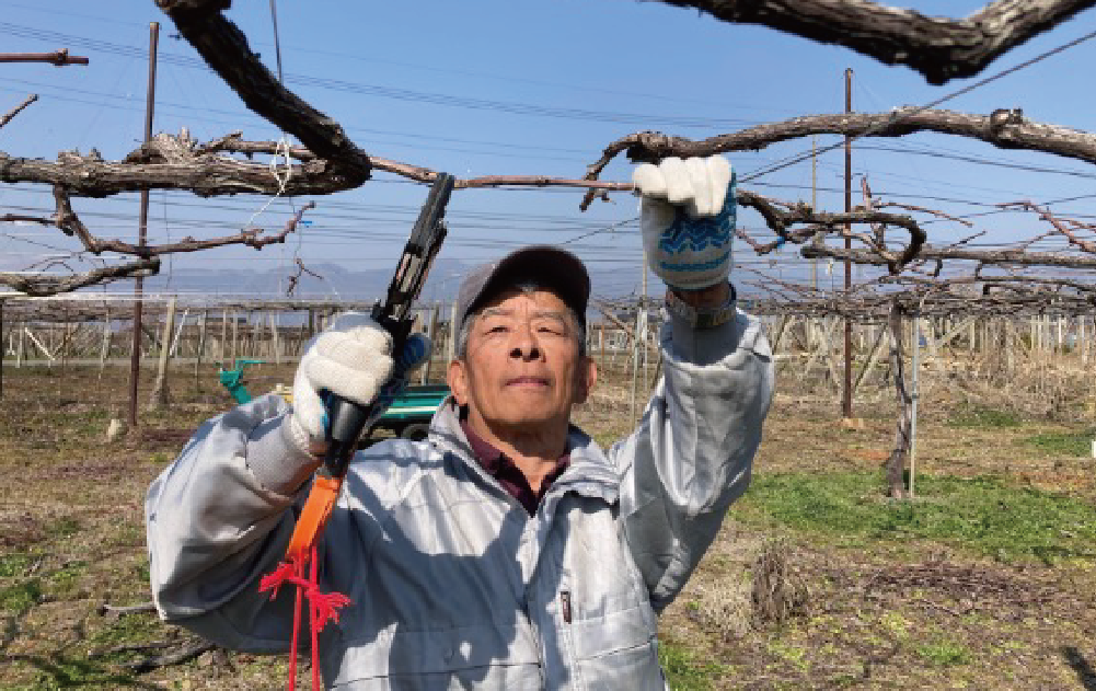
[[[982,2],[907,3],[926,14],[957,16]],[[882,112],[924,104],[979,78],[1019,64],[1071,41],[1096,25],[1087,11],[1011,52],[970,81],[929,87],[902,67],[887,67],[850,50],[823,46],[772,30],[717,22],[695,11],[629,0],[543,2],[289,2],[277,4],[286,83],[336,118],[367,152],[459,177],[549,174],[581,177],[601,149],[639,129],[703,138],[796,115],[835,113],[844,107],[844,69],[853,68],[854,110]],[[274,66],[270,4],[235,3],[229,16]],[[26,94],[41,99],[0,129],[0,150],[11,156],[55,158],[57,151],[98,148],[115,159],[142,135],[148,25],[160,21],[156,132],[187,127],[199,139],[233,129],[246,138],[279,133],[252,115],[216,78],[152,0],[0,0],[0,52],[46,52],[67,47],[91,59],[88,67],[0,66],[0,112]],[[1096,97],[1088,70],[1096,41],[985,84],[940,107],[989,113],[1023,107],[1031,120],[1096,131]],[[824,148],[837,141],[820,137]],[[810,140],[753,154],[731,155],[740,175],[810,150]],[[880,150],[881,148],[888,150]],[[895,150],[897,149],[897,150]],[[974,165],[945,156],[974,156]],[[1009,165],[1054,172],[1032,172]],[[625,180],[630,168],[615,162],[604,178]],[[843,154],[818,162],[819,206],[842,205]],[[855,145],[854,173],[866,174],[878,196],[939,208],[951,214],[984,213],[986,204],[1030,199],[1058,203],[1061,214],[1092,214],[1096,169],[1078,161],[995,149],[941,135],[864,139]],[[758,178],[746,185],[786,200],[809,200],[809,161]],[[858,184],[854,201],[859,200]],[[410,230],[426,190],[377,173],[361,190],[316,199],[302,236],[261,252],[225,248],[172,260],[186,267],[286,272],[299,257],[307,265],[335,262],[347,268],[391,264]],[[640,240],[635,224],[579,236],[632,218],[637,200],[579,211],[573,190],[476,190],[458,192],[450,204],[450,235],[443,257],[482,261],[526,242],[569,242],[595,271],[609,271],[594,291],[632,293],[641,282]],[[294,204],[276,200],[254,224],[281,227]],[[150,240],[232,233],[265,200],[237,196],[202,200],[179,192],[153,192]],[[52,211],[49,191],[0,185],[0,213]],[[136,238],[137,195],[78,200],[77,211],[94,233]],[[1040,230],[1021,214],[978,216],[973,230],[956,224],[927,226],[934,242],[985,230],[980,242],[1005,243]],[[760,229],[760,219],[741,223]],[[0,227],[0,268],[22,269],[73,248],[56,229]],[[35,245],[33,242],[45,243]],[[1043,249],[1059,245],[1044,243]],[[803,279],[804,264],[785,251],[757,259],[740,243],[738,275],[754,280],[763,270]],[[73,268],[79,264],[71,264]],[[826,279],[824,279],[826,280]],[[122,290],[127,290],[123,287]]]

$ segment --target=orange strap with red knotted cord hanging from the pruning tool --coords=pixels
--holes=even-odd
[[[317,475],[312,489],[308,492],[305,508],[297,518],[297,525],[285,551],[285,559],[272,573],[262,577],[259,591],[271,591],[271,600],[277,597],[278,588],[285,584],[297,587],[297,599],[293,614],[293,641],[289,648],[289,683],[293,691],[297,681],[298,634],[300,632],[301,594],[308,600],[309,628],[311,631],[312,688],[321,689],[320,659],[317,634],[328,621],[339,623],[339,610],[350,604],[350,598],[341,592],[320,592],[316,542],[323,532],[323,525],[339,499],[342,477]]]

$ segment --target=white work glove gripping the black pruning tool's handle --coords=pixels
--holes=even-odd
[[[347,311],[312,339],[293,382],[290,434],[297,446],[323,453],[329,424],[323,397],[329,393],[359,405],[376,403],[372,424],[407,386],[408,375],[430,356],[430,339],[415,333],[398,361],[392,337],[368,315]]]

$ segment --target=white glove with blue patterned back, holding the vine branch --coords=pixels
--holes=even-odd
[[[642,195],[640,226],[651,270],[671,288],[727,281],[734,233],[734,171],[722,156],[666,158],[631,175]]]

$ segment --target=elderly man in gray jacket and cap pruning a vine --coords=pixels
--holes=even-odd
[[[320,633],[329,687],[663,689],[658,613],[749,484],[773,365],[728,283],[729,163],[667,159],[635,181],[670,286],[665,374],[638,429],[604,453],[570,423],[597,378],[574,256],[532,247],[472,272],[429,439],[359,452],[323,533],[320,582],[352,602]],[[390,348],[344,316],[302,359],[294,408],[267,396],[210,420],[153,483],[161,616],[229,647],[289,647],[293,593],[258,584],[319,465],[318,393],[374,400],[400,369]]]

